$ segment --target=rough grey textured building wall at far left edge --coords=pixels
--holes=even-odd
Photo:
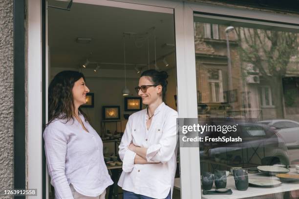
[[[1,0],[0,33],[0,190],[3,190],[14,186],[13,0]]]

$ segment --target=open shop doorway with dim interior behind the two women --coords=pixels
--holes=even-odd
[[[68,5],[57,0],[47,3],[60,8]],[[120,160],[118,144],[128,116],[145,108],[135,104],[141,101],[134,91],[143,71],[168,73],[165,103],[177,110],[173,9],[114,1],[101,5],[74,2],[70,11],[48,7],[47,22],[46,84],[64,70],[85,75],[91,95],[83,110],[104,142],[105,161],[114,180],[106,198],[122,198],[122,190],[117,186],[122,167],[113,163]],[[123,96],[124,93],[128,95]],[[105,111],[103,114],[107,108],[116,110],[111,118]],[[177,165],[176,178],[178,168]],[[47,187],[46,195],[54,198],[53,187],[50,183]],[[174,189],[173,198],[180,199],[180,191]]]

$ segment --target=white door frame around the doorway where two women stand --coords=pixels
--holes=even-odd
[[[196,79],[195,65],[191,65],[186,55],[186,31],[184,3],[171,0],[74,0],[74,2],[122,7],[128,9],[146,10],[154,12],[174,13],[176,65],[178,83],[178,113],[180,118],[196,118]],[[146,5],[141,5],[140,2]],[[37,188],[38,196],[42,195],[42,15],[41,1],[28,1],[28,188]],[[189,16],[190,17],[190,16]],[[189,18],[191,20],[191,18]],[[185,28],[182,28],[185,27]],[[192,34],[192,32],[191,32]],[[47,33],[46,33],[47,35]],[[47,46],[47,44],[46,44]],[[194,49],[194,43],[188,48]],[[193,54],[194,55],[194,54]],[[46,53],[47,57],[47,53]],[[194,57],[194,56],[193,56]],[[195,58],[193,58],[195,63]],[[46,68],[47,60],[46,60]],[[46,72],[46,77],[48,72]],[[46,79],[46,85],[48,85]],[[186,88],[186,85],[189,85]],[[46,94],[47,95],[47,94]],[[47,96],[46,96],[47,98]],[[182,199],[200,199],[200,173],[198,148],[180,149],[181,163],[181,197]],[[194,162],[190,164],[190,162]],[[196,178],[194,178],[194,176]],[[46,187],[48,187],[46,181]],[[48,196],[47,196],[48,197]],[[31,199],[31,197],[28,197]],[[33,198],[32,198],[33,199]]]

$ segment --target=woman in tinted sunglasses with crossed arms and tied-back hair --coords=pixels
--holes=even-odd
[[[163,100],[165,71],[141,74],[136,92],[147,108],[132,114],[119,146],[124,199],[171,199],[176,171],[177,112]]]

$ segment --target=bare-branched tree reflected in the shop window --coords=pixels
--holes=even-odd
[[[238,50],[243,62],[252,63],[271,87],[277,118],[283,118],[282,78],[292,56],[298,55],[298,34],[236,27]]]

